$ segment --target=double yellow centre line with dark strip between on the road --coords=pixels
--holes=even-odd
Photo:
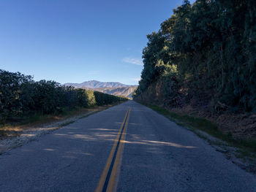
[[[110,151],[110,155],[108,156],[108,161],[105,164],[102,175],[99,178],[99,183],[95,192],[112,192],[115,189],[117,176],[116,174],[121,159],[125,133],[127,131],[129,112],[130,109],[127,110],[127,113],[124,116],[123,123],[121,124],[112,150]]]

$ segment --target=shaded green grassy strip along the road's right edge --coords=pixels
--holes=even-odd
[[[206,140],[206,142],[214,147],[216,151],[223,153],[225,158],[232,161],[233,164],[236,164],[246,172],[256,174],[256,154],[254,152],[255,149],[253,148],[254,145],[249,145],[249,142],[247,143],[244,140],[233,139],[233,137],[230,135],[222,134],[219,131],[212,132],[214,128],[211,127],[213,126],[211,123],[206,123],[205,127],[198,128],[195,126],[198,122],[194,123],[191,120],[184,120],[184,118],[187,118],[187,115],[184,115],[183,117],[182,115],[173,114],[173,112],[169,112],[166,109],[156,105],[146,103],[140,104],[143,104],[159,114],[164,115],[169,120],[175,122],[178,126],[182,126],[187,128],[189,131],[193,131],[198,137]],[[193,117],[188,118],[194,119]],[[210,128],[213,130],[207,130]]]

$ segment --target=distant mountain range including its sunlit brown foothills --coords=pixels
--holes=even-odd
[[[67,82],[64,85],[74,88],[83,88],[87,90],[99,91],[114,96],[126,96],[132,99],[132,93],[138,87],[137,85],[124,85],[121,82],[99,82],[97,80],[86,81],[82,83]]]

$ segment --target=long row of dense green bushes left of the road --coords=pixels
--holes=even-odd
[[[64,109],[113,104],[126,99],[86,91],[0,69],[0,122],[33,113],[54,114]]]

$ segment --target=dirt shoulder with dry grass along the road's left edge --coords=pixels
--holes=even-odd
[[[0,155],[27,142],[36,140],[44,134],[49,134],[58,128],[67,126],[69,123],[75,122],[75,120],[86,118],[89,115],[106,110],[112,106],[79,109],[69,112],[68,115],[48,115],[32,123],[26,123],[20,126],[4,126],[0,129]]]

